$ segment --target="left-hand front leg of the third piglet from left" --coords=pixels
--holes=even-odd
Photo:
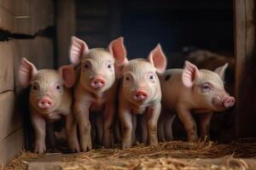
[[[132,145],[132,120],[131,111],[119,107],[119,119],[122,127],[122,149],[130,148]]]

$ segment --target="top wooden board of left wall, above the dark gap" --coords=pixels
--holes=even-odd
[[[51,0],[0,0],[0,29],[34,35],[55,23]]]

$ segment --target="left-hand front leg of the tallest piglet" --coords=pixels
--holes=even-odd
[[[89,106],[75,103],[74,114],[79,123],[80,149],[91,150]]]

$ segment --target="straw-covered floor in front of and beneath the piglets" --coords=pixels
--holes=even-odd
[[[256,169],[256,143],[251,140],[231,144],[172,141],[156,146],[136,144],[126,150],[98,149],[77,154],[22,152],[2,169]]]

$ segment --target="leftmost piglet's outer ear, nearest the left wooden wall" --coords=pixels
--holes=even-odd
[[[19,69],[19,80],[21,86],[26,88],[32,82],[32,77],[34,77],[37,72],[37,68],[31,62],[26,58],[22,58]]]

